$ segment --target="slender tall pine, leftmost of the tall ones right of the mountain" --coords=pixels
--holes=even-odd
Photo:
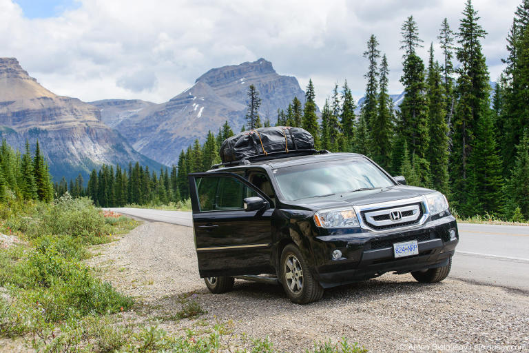
[[[375,34],[371,34],[369,41],[367,41],[367,50],[364,52],[364,58],[368,59],[369,66],[367,73],[364,74],[364,77],[367,79],[366,95],[360,113],[364,116],[369,134],[371,134],[371,121],[373,121],[377,115],[377,77],[379,75],[377,60],[380,58],[380,50],[378,50],[377,47],[377,37],[375,37]]]

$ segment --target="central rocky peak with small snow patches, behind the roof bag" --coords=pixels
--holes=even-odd
[[[262,122],[267,117],[274,122],[278,108],[286,110],[294,97],[302,103],[305,100],[305,93],[295,77],[278,74],[270,61],[260,58],[212,68],[169,101],[153,103],[132,114],[116,111],[114,117],[104,119],[138,152],[171,165],[177,163],[180,150],[195,139],[203,141],[208,130],[216,132],[225,121],[234,131],[240,130],[245,124],[247,92],[251,84],[256,86],[262,99],[259,110]],[[104,107],[98,102],[101,101],[92,103],[103,108],[104,115]],[[120,119],[125,115],[125,119]]]

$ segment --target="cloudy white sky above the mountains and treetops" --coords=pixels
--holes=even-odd
[[[521,0],[473,3],[495,80]],[[322,105],[344,79],[362,97],[362,52],[372,33],[388,56],[390,90],[401,92],[402,22],[415,17],[426,59],[431,41],[438,49],[444,17],[457,30],[463,8],[464,0],[0,0],[0,57],[16,57],[56,94],[155,102],[210,68],[263,57],[302,88],[312,78]]]

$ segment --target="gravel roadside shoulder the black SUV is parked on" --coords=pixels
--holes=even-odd
[[[282,351],[303,352],[314,341],[346,337],[371,352],[506,352],[512,350],[509,345],[529,352],[525,292],[450,277],[425,285],[408,274],[385,274],[326,290],[321,301],[309,305],[291,303],[280,286],[247,281],[236,281],[233,292],[210,294],[198,277],[192,233],[179,225],[143,223],[121,240],[96,248],[89,263],[143,301],[132,318],[158,322],[169,332],[183,334],[202,321],[233,319],[237,335],[269,335]],[[178,294],[191,291],[207,314],[174,319]]]

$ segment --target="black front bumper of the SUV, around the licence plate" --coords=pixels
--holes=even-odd
[[[450,239],[455,230],[455,239]],[[395,259],[393,243],[417,240],[419,254]],[[313,241],[313,273],[324,288],[362,281],[386,272],[407,273],[448,264],[459,242],[453,216],[427,221],[413,230],[384,233],[360,232],[317,236]],[[342,258],[332,260],[334,250]]]

